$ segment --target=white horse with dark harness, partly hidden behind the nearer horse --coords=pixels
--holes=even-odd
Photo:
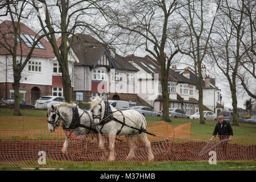
[[[96,127],[92,121],[92,113],[74,107],[72,104],[61,103],[52,105],[47,111],[48,130],[55,131],[60,124],[60,119],[63,121],[63,129],[65,132],[65,142],[62,148],[63,154],[67,154],[69,137],[74,131],[75,137],[97,133]]]

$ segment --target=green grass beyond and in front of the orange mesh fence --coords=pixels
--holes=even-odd
[[[46,117],[46,110],[30,110],[30,109],[21,109],[22,115],[21,117]],[[13,109],[0,109],[0,117],[15,117],[13,115]],[[161,118],[157,117],[146,117],[147,122],[160,121]],[[205,134],[211,135],[213,133],[214,127],[216,125],[215,121],[205,121],[205,125],[200,125],[199,120],[196,119],[172,119],[172,122],[168,123],[172,128],[182,124],[191,122],[191,132],[197,134]],[[1,123],[0,123],[1,124]],[[47,129],[47,123],[45,124]],[[0,125],[1,126],[1,125]],[[250,123],[240,123],[240,126],[232,126],[234,135],[254,135],[256,134],[256,125]],[[2,127],[1,127],[2,129]],[[157,165],[147,165],[147,166],[139,166],[139,167],[69,167],[65,168],[65,170],[127,170],[127,171],[176,171],[176,170],[204,170],[204,171],[222,171],[222,170],[253,170],[255,171],[256,165],[254,162],[223,162],[217,163],[217,165],[210,165],[208,162],[172,162],[172,163],[164,163]],[[20,170],[20,168],[2,168],[0,166],[0,170]]]

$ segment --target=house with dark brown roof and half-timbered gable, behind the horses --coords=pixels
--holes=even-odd
[[[90,97],[134,102],[137,100],[138,69],[90,35],[69,39],[79,63],[75,64],[74,95],[88,102]]]

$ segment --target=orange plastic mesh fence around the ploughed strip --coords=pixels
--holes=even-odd
[[[104,135],[104,147],[99,147],[99,135],[75,137],[71,134],[67,152],[63,153],[65,133],[59,127],[47,130],[46,118],[0,118],[0,167],[79,167],[79,166],[142,166],[176,161],[208,161],[216,156],[217,162],[255,162],[256,135],[234,136],[232,141],[211,135],[191,133],[191,123],[171,128],[165,122],[147,123],[147,134],[154,160],[148,161],[147,142],[139,137],[115,137],[114,161],[109,158],[109,138]],[[134,156],[129,141],[135,142]],[[210,152],[210,155],[209,155]]]

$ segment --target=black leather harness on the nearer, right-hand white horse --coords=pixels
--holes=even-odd
[[[142,132],[143,133],[146,133],[146,134],[150,134],[150,135],[153,135],[154,137],[156,137],[155,134],[151,134],[151,133],[148,133],[142,126],[143,126],[143,123],[141,125],[141,129],[137,129],[136,127],[133,127],[133,126],[129,126],[125,123],[125,116],[123,115],[122,111],[121,110],[116,110],[116,111],[112,111],[111,108],[110,108],[110,105],[109,105],[109,102],[108,101],[104,101],[105,103],[105,112],[104,112],[104,117],[101,119],[101,114],[99,115],[93,115],[93,119],[100,119],[100,124],[99,125],[102,125],[101,129],[100,129],[100,133],[101,133],[101,130],[102,128],[104,127],[104,125],[112,120],[114,120],[115,122],[118,122],[118,123],[121,123],[122,126],[121,126],[121,129],[117,132],[117,135],[121,132],[121,130],[123,129],[123,126],[127,126],[127,127],[130,127],[131,129],[135,129],[135,130],[138,130],[138,132],[136,134],[141,134]],[[100,105],[100,104],[99,104]],[[101,105],[100,105],[101,106]],[[102,106],[101,106],[102,108]],[[100,109],[101,111],[101,109]],[[115,118],[113,116],[113,113],[119,111],[122,115],[123,115],[123,121],[119,121],[117,118]],[[102,113],[102,111],[101,111]],[[102,134],[102,133],[101,133]],[[135,135],[136,135],[135,134]]]

